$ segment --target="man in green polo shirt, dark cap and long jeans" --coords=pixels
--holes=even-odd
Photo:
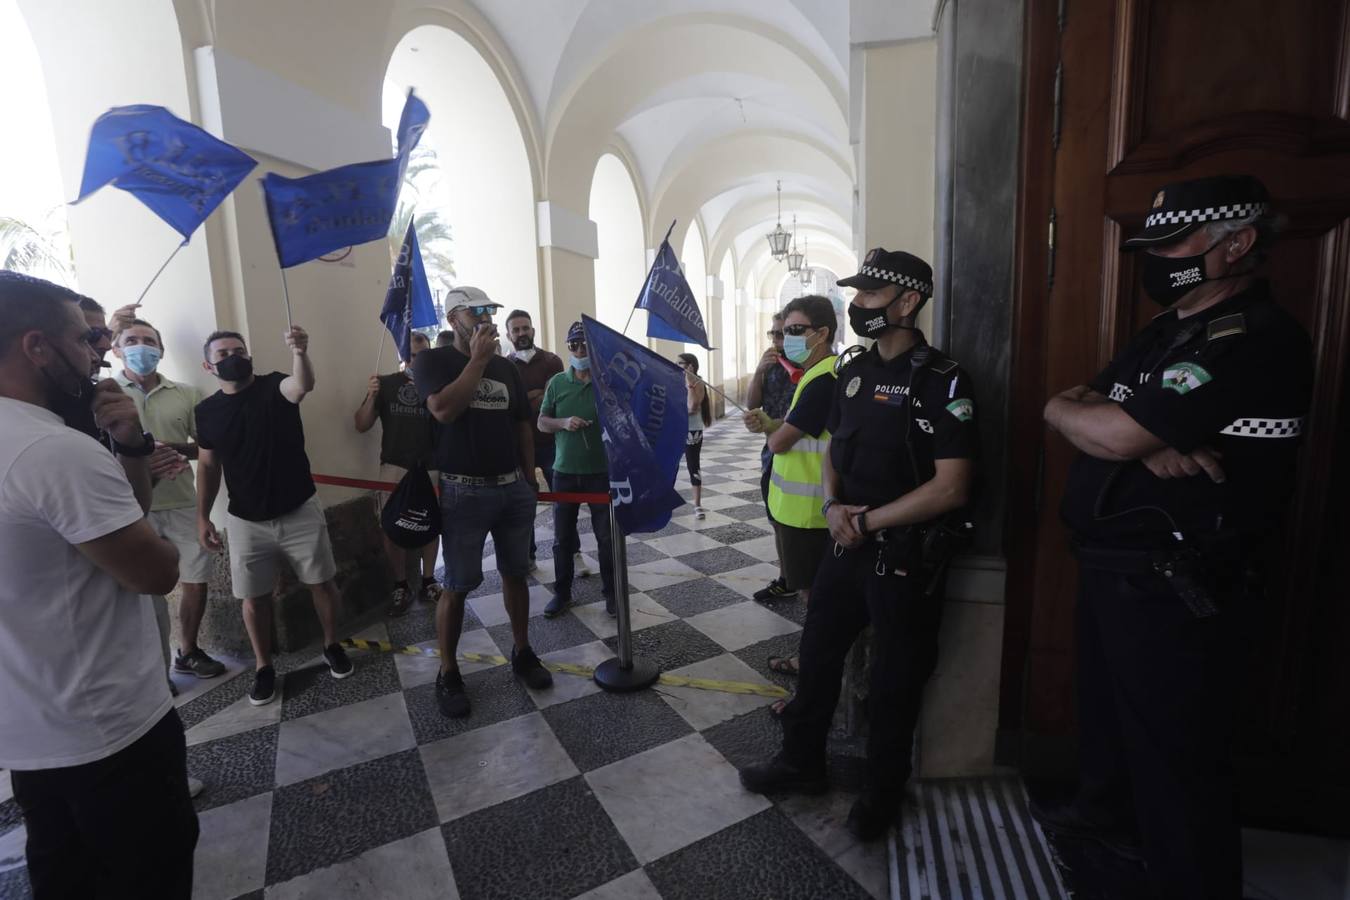
[[[609,463],[595,412],[595,387],[590,378],[590,354],[580,322],[567,329],[568,367],[544,387],[539,407],[539,430],[555,434],[554,491],[559,494],[609,494]],[[599,553],[599,576],[605,591],[605,611],[614,614],[614,557],[610,553],[609,507],[587,503],[591,529]],[[554,599],[544,615],[554,618],[572,602],[574,557],[580,549],[576,536],[579,503],[554,505]]]

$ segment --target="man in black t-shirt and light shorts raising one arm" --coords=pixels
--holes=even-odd
[[[220,390],[197,403],[197,534],[208,551],[221,549],[211,524],[221,472],[230,488],[230,579],[243,599],[244,627],[256,657],[248,702],[271,703],[277,673],[271,667],[271,592],[285,557],[315,598],[324,630],[324,660],[335,679],[351,675],[351,661],[338,644],[333,584],[338,567],[328,522],[315,497],[305,456],[300,401],[315,389],[309,335],[298,325],[286,332],[290,375],[254,375],[252,358],[236,332],[207,337],[201,364]]]

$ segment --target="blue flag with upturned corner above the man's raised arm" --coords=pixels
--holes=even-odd
[[[429,120],[427,104],[409,90],[393,159],[355,162],[304,178],[267,173],[262,192],[281,267],[383,239],[398,205],[408,157]]]

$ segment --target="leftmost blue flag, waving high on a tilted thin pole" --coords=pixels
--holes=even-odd
[[[80,202],[107,184],[150,208],[188,243],[258,161],[163,107],[113,107],[89,134]]]

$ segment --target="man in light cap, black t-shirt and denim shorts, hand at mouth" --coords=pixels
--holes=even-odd
[[[436,610],[440,673],[436,703],[451,718],[468,715],[468,695],[455,649],[464,623],[464,598],[483,582],[489,532],[510,618],[512,668],[526,687],[554,683],[529,646],[529,537],[539,487],[535,484],[535,422],[520,371],[497,355],[493,302],[478,287],[455,287],[446,297],[446,320],[455,343],[418,354],[417,393],[440,422],[435,461],[446,580]]]

